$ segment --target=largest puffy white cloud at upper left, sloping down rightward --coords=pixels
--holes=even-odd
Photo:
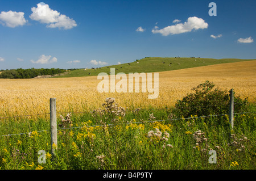
[[[77,26],[75,20],[50,9],[47,4],[38,3],[37,6],[31,8],[30,19],[46,23],[48,28],[64,28],[64,30],[68,30]]]

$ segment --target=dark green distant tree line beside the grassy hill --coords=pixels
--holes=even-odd
[[[11,69],[0,70],[0,78],[34,78],[38,75],[54,75],[64,73],[65,69]]]

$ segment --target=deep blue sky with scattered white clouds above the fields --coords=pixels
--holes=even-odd
[[[209,15],[210,2],[217,16]],[[255,7],[254,0],[0,1],[0,69],[91,68],[144,57],[253,59]]]

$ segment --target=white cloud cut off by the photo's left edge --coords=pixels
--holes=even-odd
[[[3,26],[15,28],[17,26],[23,26],[26,22],[27,20],[24,18],[24,12],[2,11],[0,14],[0,24]]]

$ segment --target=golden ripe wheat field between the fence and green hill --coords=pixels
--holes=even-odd
[[[48,113],[50,98],[56,98],[57,112],[102,108],[106,97],[115,98],[122,107],[170,107],[206,80],[223,90],[233,88],[237,95],[255,102],[256,60],[159,72],[157,99],[148,99],[148,92],[100,93],[97,76],[0,79],[0,117]]]

